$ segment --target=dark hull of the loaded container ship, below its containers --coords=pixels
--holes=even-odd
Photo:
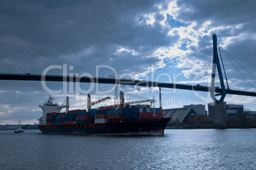
[[[126,120],[123,122],[100,124],[99,127],[38,125],[38,129],[45,134],[162,136],[170,119]]]

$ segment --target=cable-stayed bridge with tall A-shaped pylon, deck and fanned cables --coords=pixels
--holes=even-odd
[[[148,80],[148,78],[146,80],[143,80],[143,76],[141,77],[139,75],[147,74],[149,70],[152,69],[152,67],[150,67],[150,69],[146,69],[146,71],[137,73],[138,79],[136,79],[135,77],[124,77],[117,79],[95,76],[95,74],[85,71],[82,67],[79,66],[76,66],[76,69],[73,69],[74,65],[71,62],[60,59],[59,57],[52,55],[52,53],[46,52],[45,50],[0,29],[0,80],[69,82],[79,81],[80,83],[106,83],[120,85],[137,85],[141,87],[196,90],[201,92],[211,92],[211,94],[213,94],[214,96],[218,96],[221,94],[224,95],[223,93],[225,93],[255,97],[256,90],[252,85],[253,83],[255,83],[255,78],[252,76],[252,74],[248,73],[248,71],[246,71],[244,67],[242,67],[238,62],[232,62],[233,58],[231,57],[231,55],[229,55],[229,53],[225,52],[223,48],[218,46],[217,51],[217,38],[215,39],[216,42],[213,41],[213,48],[210,44],[203,46],[202,48],[199,48],[194,52],[162,60],[162,62],[159,64],[159,67],[153,70],[153,73],[155,73],[155,75],[151,75],[150,80]],[[220,53],[220,51],[222,51],[222,53]],[[203,57],[197,59],[194,58],[195,56],[198,57],[199,55],[203,55]],[[214,55],[217,55],[217,59],[219,59],[218,55],[220,55],[221,62],[216,62],[215,58],[212,59]],[[226,58],[222,57],[222,55],[225,55]],[[187,75],[194,74],[195,77],[196,73],[198,72],[198,66],[202,65],[202,63],[199,62],[201,62],[202,60],[203,63],[209,64],[211,72],[216,71],[216,68],[218,71],[216,73],[208,73],[208,75],[201,76],[194,80],[189,80],[187,78]],[[214,65],[211,64],[212,60]],[[63,63],[69,64],[70,66],[72,66],[72,69],[66,68],[67,72],[61,75],[61,71],[59,68],[64,69]],[[162,67],[162,65],[164,65],[164,67]],[[232,66],[234,69],[236,69],[238,74],[234,73],[234,71],[229,71],[229,67],[227,67],[226,65]],[[44,73],[45,69],[49,66],[53,66],[53,69],[48,69],[47,73]],[[71,74],[71,70],[73,74]],[[227,70],[227,74],[225,70]],[[209,70],[204,72],[209,72]],[[77,76],[75,75],[75,73],[80,73],[80,75]],[[81,76],[84,75],[84,73],[87,74],[85,74],[85,76]],[[165,76],[166,74],[178,73],[183,75],[176,78],[175,82],[169,81],[168,76]],[[225,75],[225,77],[222,76],[222,74]],[[231,78],[229,78],[229,83],[227,80],[227,75],[231,75]],[[246,78],[246,76],[249,78]],[[211,85],[201,83],[201,81],[199,80],[200,78],[201,80],[206,80],[210,78]],[[238,81],[236,80],[243,82],[244,85],[239,85]],[[238,85],[232,88],[232,84],[234,83]],[[221,87],[218,87],[218,84]],[[236,87],[240,87],[240,89]]]

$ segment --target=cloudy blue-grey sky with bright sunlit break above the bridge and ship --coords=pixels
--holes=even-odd
[[[62,74],[66,66],[73,74],[113,78],[117,71],[122,78],[208,86],[212,34],[217,34],[220,48],[227,52],[222,57],[230,89],[255,92],[255,1],[1,0],[0,4],[2,73],[42,74],[57,65],[62,69],[53,69],[52,74]],[[12,38],[8,43],[20,46],[7,45],[6,35]],[[232,64],[229,55],[237,63]],[[252,86],[238,76],[239,71],[246,74],[239,65],[253,76],[246,77]],[[216,85],[220,87],[218,80]],[[92,101],[106,96],[115,101],[113,85],[1,80],[0,87],[0,124],[17,124],[18,120],[33,124],[42,115],[38,104],[48,95],[59,104],[68,95],[71,110],[87,108],[87,92]],[[126,101],[155,97],[159,103],[155,88],[123,85],[119,90],[125,92]],[[211,102],[209,93],[162,91],[164,108]],[[227,95],[225,101],[256,111],[255,97]]]

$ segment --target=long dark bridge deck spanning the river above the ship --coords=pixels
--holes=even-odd
[[[115,78],[89,78],[89,77],[69,77],[69,76],[41,76],[31,74],[0,74],[0,80],[27,80],[27,81],[72,81],[80,83],[105,83],[105,84],[120,84],[120,85],[137,85],[143,87],[162,87],[168,89],[182,89],[182,90],[196,90],[201,92],[211,92],[215,90],[217,93],[221,93],[222,89],[212,89],[205,86],[194,85],[181,85],[175,83],[161,83],[155,81],[144,80],[117,80]],[[240,90],[226,90],[227,94],[235,94],[241,96],[253,96],[256,97],[256,92],[245,92]]]

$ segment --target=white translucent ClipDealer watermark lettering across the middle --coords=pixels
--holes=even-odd
[[[58,90],[50,89],[46,85],[46,76],[50,74],[50,71],[53,70],[59,70],[61,71],[62,76],[59,76],[62,78],[62,87]],[[180,99],[176,99],[176,97],[171,96],[170,94],[176,94],[176,81],[179,76],[181,76],[181,73],[160,73],[157,76],[154,75],[154,71],[151,69],[150,72],[147,74],[139,74],[134,75],[131,73],[123,73],[123,74],[117,74],[117,71],[111,67],[111,66],[96,66],[96,76],[93,76],[90,73],[71,73],[73,71],[73,66],[68,66],[68,64],[61,65],[53,65],[48,66],[41,74],[41,85],[43,89],[50,93],[50,94],[75,94],[76,101],[83,100],[82,96],[85,96],[87,94],[92,93],[93,91],[96,92],[96,94],[109,94],[110,92],[115,91],[115,89],[118,87],[118,90],[123,90],[122,85],[133,85],[134,90],[133,93],[135,94],[150,94],[153,92],[159,92],[159,87],[157,85],[159,84],[159,79],[164,77],[167,79],[164,83],[170,83],[173,85],[172,89],[162,91],[161,94],[169,94],[170,97],[168,97],[167,100],[162,99],[162,106],[181,106],[182,102]],[[115,78],[103,78],[101,77],[99,73],[99,69],[108,69],[108,71],[111,71],[111,73],[114,75]],[[207,71],[206,71],[207,72]],[[192,80],[192,88],[195,86],[194,82],[197,82],[199,78],[202,78],[205,76],[206,73],[204,70],[199,71],[198,73],[195,73],[195,76]],[[155,79],[154,79],[155,77]],[[82,81],[83,80],[83,81]],[[104,81],[103,81],[104,80]],[[108,84],[112,84],[113,87],[111,89],[104,89],[99,87],[99,83],[107,82]],[[89,88],[82,89],[81,83],[88,83]],[[198,84],[197,84],[198,86]],[[139,89],[139,90],[138,90]],[[208,99],[208,96],[202,96],[201,94],[197,93],[196,90],[194,90],[194,94],[201,99],[202,101],[206,101]]]

